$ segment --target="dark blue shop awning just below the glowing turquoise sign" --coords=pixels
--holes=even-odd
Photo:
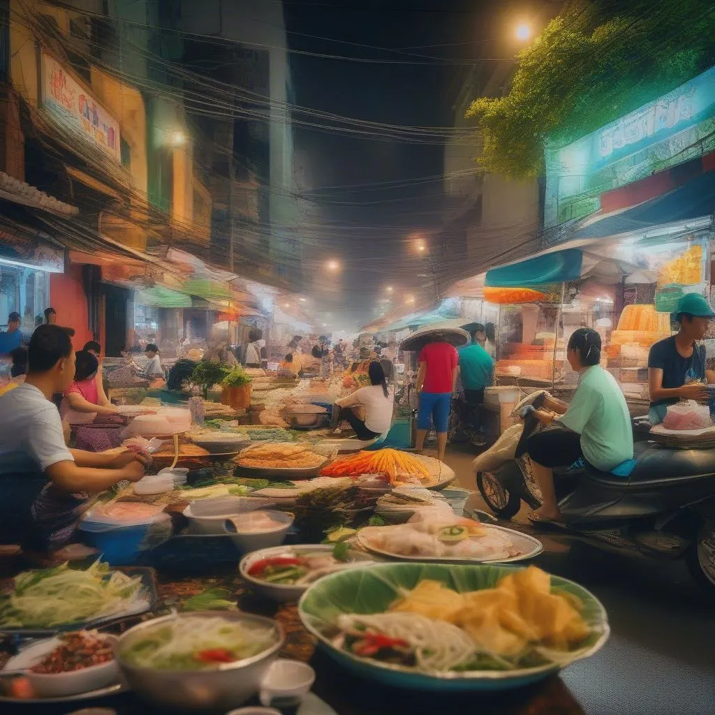
[[[606,217],[591,217],[574,232],[576,239],[599,239],[656,226],[687,222],[715,213],[715,172],[708,172],[662,196]],[[488,274],[487,274],[488,275]]]

